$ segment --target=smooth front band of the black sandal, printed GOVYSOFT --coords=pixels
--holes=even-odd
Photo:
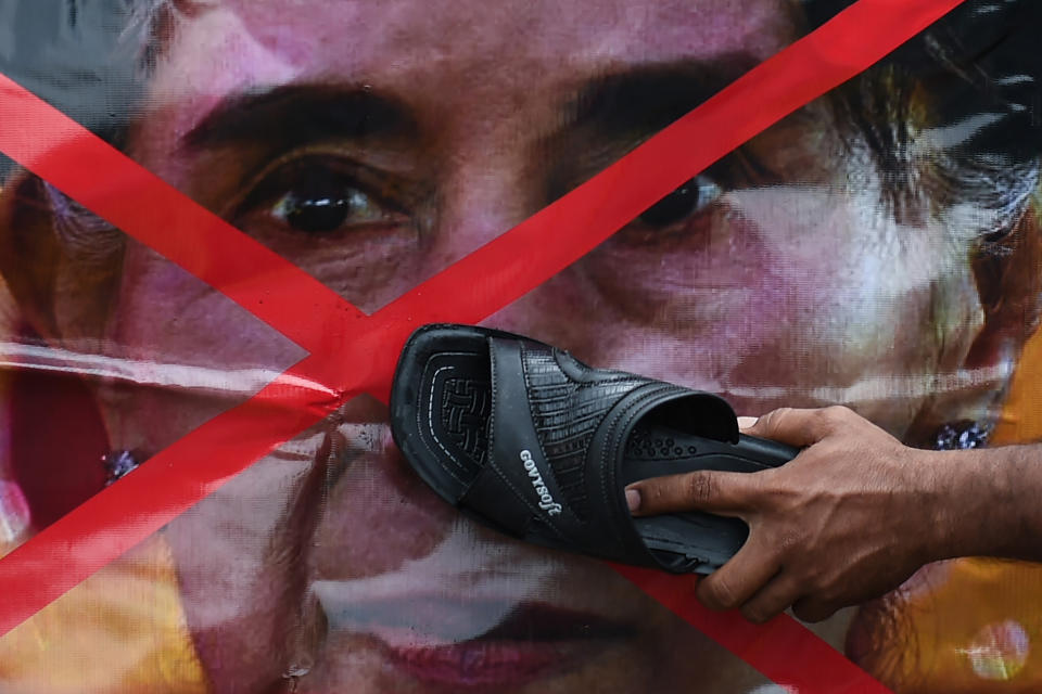
[[[460,502],[484,517],[498,518],[510,528],[521,529],[511,532],[517,537],[526,537],[538,520],[539,526],[563,538],[563,528],[574,527],[576,519],[564,503],[532,421],[521,343],[490,337],[488,351],[488,457]]]

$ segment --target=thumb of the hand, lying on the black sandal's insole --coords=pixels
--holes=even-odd
[[[700,470],[683,475],[649,477],[626,487],[626,502],[637,516],[678,511],[709,511],[735,516],[753,505],[760,489],[757,475]]]

